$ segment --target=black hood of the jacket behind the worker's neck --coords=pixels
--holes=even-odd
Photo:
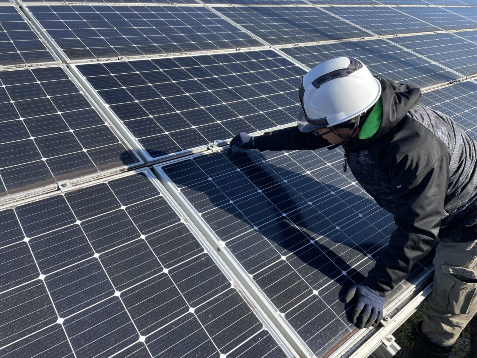
[[[383,117],[376,133],[370,138],[360,139],[349,144],[346,149],[360,150],[367,147],[376,138],[389,132],[407,112],[421,102],[421,90],[412,84],[398,84],[388,78],[381,78],[381,103],[383,104]]]

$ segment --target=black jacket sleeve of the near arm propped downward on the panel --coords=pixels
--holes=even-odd
[[[436,243],[449,184],[449,157],[449,153],[442,155],[434,165],[416,175],[406,157],[392,170],[397,228],[364,280],[383,297],[408,276],[412,266]]]

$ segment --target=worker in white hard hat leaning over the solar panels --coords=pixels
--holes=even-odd
[[[420,104],[421,90],[374,77],[359,60],[325,61],[302,79],[298,125],[261,136],[239,133],[244,149],[344,149],[364,190],[394,215],[396,229],[355,299],[353,323],[377,326],[384,297],[436,242],[433,292],[406,358],[449,357],[470,322],[477,358],[477,143],[443,113]],[[477,317],[477,316],[476,316]]]

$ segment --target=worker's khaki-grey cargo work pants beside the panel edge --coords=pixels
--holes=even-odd
[[[422,333],[452,346],[477,313],[477,241],[439,242],[432,293],[425,303]]]

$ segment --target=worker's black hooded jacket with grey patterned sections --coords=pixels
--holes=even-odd
[[[364,190],[394,214],[397,229],[364,283],[380,295],[407,277],[436,240],[477,239],[477,143],[443,113],[419,104],[421,91],[380,80],[383,117],[373,137],[344,147]],[[255,137],[263,150],[330,143],[288,127]]]

